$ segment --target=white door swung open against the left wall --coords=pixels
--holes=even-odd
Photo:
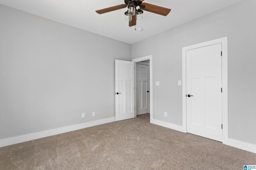
[[[134,62],[116,60],[116,121],[134,118]]]

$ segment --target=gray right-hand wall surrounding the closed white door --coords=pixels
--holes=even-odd
[[[255,7],[245,0],[132,45],[132,59],[153,55],[154,119],[182,125],[182,47],[228,36],[229,137],[256,144]]]

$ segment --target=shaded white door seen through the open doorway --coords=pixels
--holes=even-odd
[[[136,64],[137,115],[149,113],[149,63]]]

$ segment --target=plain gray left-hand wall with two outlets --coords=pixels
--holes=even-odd
[[[113,117],[114,59],[131,45],[0,5],[0,139]]]

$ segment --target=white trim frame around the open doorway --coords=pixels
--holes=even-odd
[[[145,60],[149,60],[149,91],[150,91],[150,95],[149,95],[149,110],[150,110],[150,123],[152,122],[153,119],[153,80],[152,80],[152,55],[148,55],[145,57],[140,57],[137,59],[132,59],[133,62],[138,63],[140,61],[145,61]],[[134,79],[136,80],[136,67],[134,70]],[[134,112],[134,117],[137,117],[137,93],[136,93],[136,82],[135,82],[135,93],[134,93],[134,106],[135,106],[135,112]]]

